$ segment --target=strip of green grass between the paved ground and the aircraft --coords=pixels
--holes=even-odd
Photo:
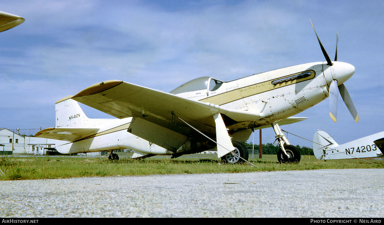
[[[280,164],[276,155],[263,155],[263,159],[250,159],[249,164],[225,164],[215,156],[207,154],[187,155],[184,158],[153,157],[133,160],[120,154],[120,160],[109,161],[106,157],[2,157],[0,158],[0,180],[55,179],[70,177],[152,175],[152,174],[205,174],[239,173],[276,170],[313,170],[384,168],[383,160],[358,159],[317,160],[314,156],[304,156],[298,164]],[[307,157],[307,158],[305,158]]]

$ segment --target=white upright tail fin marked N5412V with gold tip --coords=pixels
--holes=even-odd
[[[88,123],[89,118],[71,97],[56,102],[56,127],[84,127]]]

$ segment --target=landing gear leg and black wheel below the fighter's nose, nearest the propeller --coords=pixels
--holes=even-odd
[[[279,162],[300,162],[300,152],[295,146],[291,145],[288,139],[285,137],[279,124],[272,123],[273,131],[275,131],[276,139],[279,143],[279,151],[277,152],[277,160]]]

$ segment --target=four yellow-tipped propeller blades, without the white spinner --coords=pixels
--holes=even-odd
[[[312,21],[311,21],[311,25],[312,25],[312,28],[314,30],[314,33],[316,34],[317,40],[319,41],[321,51],[323,51],[323,55],[325,57],[325,60],[327,61],[327,65],[333,66],[331,59],[329,58],[327,52],[325,51],[325,48],[321,44],[321,41],[319,39],[319,36],[316,33],[316,30],[314,29]],[[336,32],[336,54],[335,54],[335,60],[334,61],[337,61],[338,42],[339,42],[339,34]],[[353,116],[353,119],[356,122],[358,122],[359,121],[359,114],[356,111],[356,108],[352,102],[351,96],[349,96],[347,88],[345,87],[345,85],[343,83],[338,84],[338,81],[336,79],[333,79],[331,81],[331,84],[329,84],[329,115],[331,116],[331,119],[334,122],[336,122],[339,93],[340,93],[341,98],[343,99],[345,105],[347,106],[349,112]]]

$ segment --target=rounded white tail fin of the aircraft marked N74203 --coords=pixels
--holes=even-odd
[[[317,159],[325,158],[325,150],[339,146],[329,134],[324,131],[317,131],[313,136],[313,153]]]

